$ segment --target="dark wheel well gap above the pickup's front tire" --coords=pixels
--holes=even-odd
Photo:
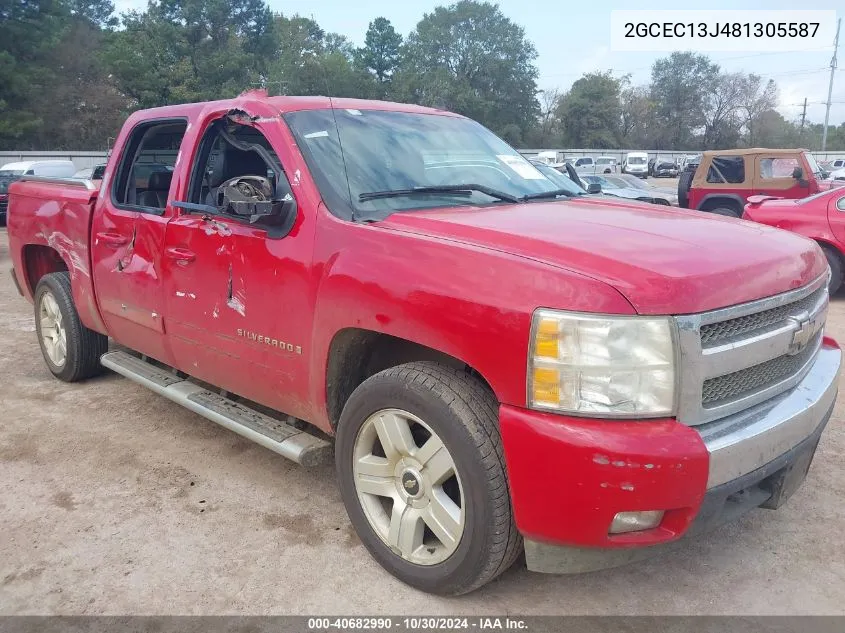
[[[348,327],[335,333],[326,359],[325,398],[331,428],[337,427],[343,407],[358,385],[380,371],[414,361],[463,369],[494,393],[487,379],[460,358],[384,332]]]

